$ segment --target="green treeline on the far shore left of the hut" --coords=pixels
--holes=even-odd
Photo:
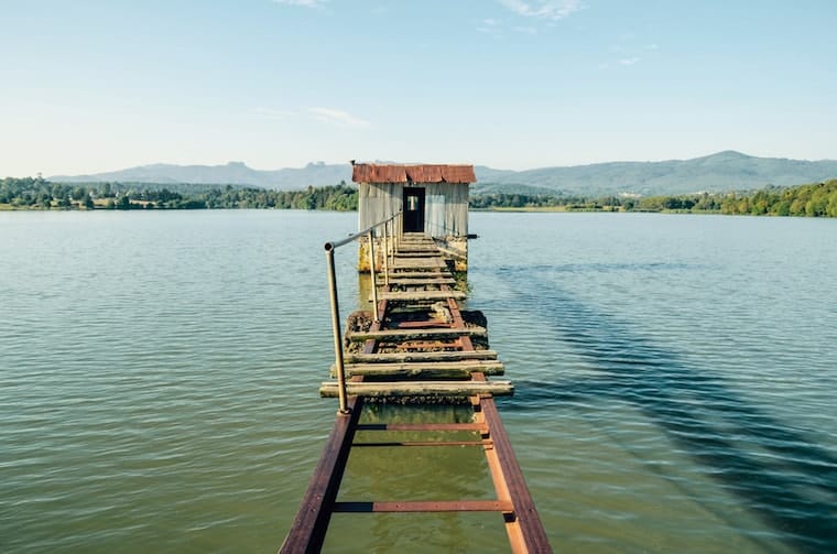
[[[331,209],[355,210],[357,189],[339,185],[269,191],[235,185],[52,183],[41,177],[0,181],[0,205],[18,209]]]

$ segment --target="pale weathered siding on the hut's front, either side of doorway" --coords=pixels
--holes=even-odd
[[[387,219],[399,211],[403,204],[402,183],[360,183],[358,187],[358,230]],[[425,233],[434,237],[468,235],[468,185],[458,183],[413,183],[411,187],[424,188]],[[444,214],[430,218],[432,197],[444,198]],[[437,208],[436,208],[437,209]],[[433,222],[428,226],[427,222]],[[432,228],[431,228],[432,227]]]

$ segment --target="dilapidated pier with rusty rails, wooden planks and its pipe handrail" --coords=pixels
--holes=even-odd
[[[399,284],[384,284],[382,286],[385,293],[392,293],[391,289],[398,286],[402,292],[412,290],[418,292],[418,289],[426,290],[428,285],[424,280],[418,280],[415,285],[409,284],[406,279],[396,279],[399,275],[400,247],[412,253],[426,251],[426,256],[441,260],[438,251],[430,248],[432,241],[425,240],[418,236],[404,236],[400,232],[400,226],[396,225],[398,214],[388,221],[379,226],[383,230],[383,259],[381,267],[384,272],[384,283],[392,282]],[[378,227],[378,226],[376,226]],[[390,235],[389,229],[393,228],[396,232]],[[491,368],[494,372],[502,369],[501,362],[497,361],[497,354],[485,348],[480,344],[479,349],[475,347],[476,337],[485,333],[465,332],[472,329],[474,324],[467,323],[459,309],[455,291],[452,290],[448,280],[450,273],[446,270],[437,270],[436,263],[427,264],[432,269],[428,275],[439,275],[441,280],[435,285],[433,294],[434,309],[441,312],[441,315],[430,314],[426,303],[416,303],[412,295],[398,296],[392,294],[382,294],[380,300],[373,296],[374,317],[369,329],[359,333],[355,339],[361,341],[360,352],[345,354],[344,340],[339,329],[339,308],[337,303],[336,283],[334,282],[334,250],[345,243],[367,235],[370,240],[370,252],[373,252],[371,242],[373,237],[370,229],[366,229],[344,241],[326,245],[326,253],[329,263],[329,286],[333,303],[333,325],[335,335],[335,366],[333,368],[338,380],[340,392],[340,409],[337,412],[334,428],[331,430],[319,461],[314,471],[314,476],[305,492],[300,511],[280,548],[280,553],[311,553],[319,552],[323,548],[324,541],[328,531],[329,522],[335,513],[384,513],[384,512],[496,512],[500,515],[501,522],[509,537],[510,550],[514,553],[543,553],[552,552],[552,547],[546,537],[545,530],[541,523],[534,501],[529,492],[525,479],[517,461],[511,441],[503,427],[500,414],[494,404],[493,395],[486,393],[483,387],[498,381],[489,381],[486,373],[480,371],[479,365]],[[396,237],[398,236],[398,237]],[[329,247],[329,245],[331,245]],[[395,247],[399,245],[400,247]],[[392,247],[390,249],[390,246]],[[330,252],[330,256],[329,256]],[[388,260],[391,254],[391,260]],[[376,259],[370,256],[370,272],[372,274],[372,287],[377,289],[374,281]],[[414,259],[413,256],[410,259]],[[390,263],[390,261],[392,263]],[[402,264],[405,268],[402,273],[414,273],[415,269],[410,264]],[[390,272],[392,274],[390,275]],[[392,276],[392,280],[389,278]],[[388,281],[389,280],[389,281]],[[406,284],[405,284],[406,282]],[[449,293],[449,294],[445,294]],[[438,298],[444,298],[442,305],[438,305]],[[411,316],[404,317],[407,313]],[[425,317],[422,319],[422,317]],[[485,329],[482,329],[485,332]],[[472,337],[475,337],[472,339]],[[442,347],[444,351],[437,351]],[[387,351],[383,351],[387,350]],[[425,373],[433,374],[435,370],[447,371],[448,379],[450,368],[470,368],[461,372],[458,380],[444,381],[453,383],[449,390],[458,390],[455,394],[460,394],[469,400],[472,410],[472,421],[470,423],[447,422],[447,423],[361,423],[361,411],[367,401],[374,401],[371,392],[358,393],[356,395],[347,394],[346,387],[346,365],[348,359],[357,366],[362,363],[365,368],[378,366],[380,369],[376,374],[376,382],[369,390],[383,390],[383,394],[401,394],[402,389],[405,394],[439,394],[434,391],[428,383],[438,381],[415,381],[416,374],[423,379]],[[396,371],[390,373],[388,369]],[[365,381],[365,372],[352,374],[350,382],[357,390],[360,387],[368,387]],[[442,374],[442,373],[441,373]],[[405,377],[407,376],[407,377]],[[411,377],[412,376],[412,379]],[[381,379],[384,379],[381,381]],[[391,382],[390,382],[391,381]],[[389,384],[388,384],[389,383]],[[324,383],[325,387],[333,388],[331,383]],[[349,389],[349,390],[352,390]],[[460,390],[459,390],[460,389]],[[323,394],[323,390],[320,390]],[[376,393],[377,394],[377,393]],[[447,393],[442,393],[447,394]],[[356,441],[357,432],[378,432],[378,431],[409,431],[411,437],[409,441],[377,441],[365,438]],[[421,435],[418,438],[413,436],[414,433],[439,433],[439,432],[468,432],[475,436],[463,439],[461,437],[452,437],[455,439],[433,439],[424,441]],[[366,437],[367,435],[365,435]],[[394,447],[416,447],[416,446],[458,446],[481,448],[486,456],[490,477],[493,482],[494,496],[492,499],[459,499],[459,500],[433,500],[433,501],[411,501],[411,500],[349,500],[337,501],[340,482],[344,478],[346,466],[351,448],[394,448]],[[472,471],[472,468],[463,468],[463,472]],[[428,476],[430,478],[431,476]],[[393,491],[396,493],[398,491]]]

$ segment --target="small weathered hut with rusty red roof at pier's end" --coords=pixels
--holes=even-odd
[[[456,271],[467,271],[468,185],[477,181],[472,165],[352,162],[351,180],[359,187],[358,229],[403,211],[403,232],[433,238]],[[361,245],[358,268],[368,270],[363,250]]]

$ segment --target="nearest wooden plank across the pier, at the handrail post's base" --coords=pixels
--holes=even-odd
[[[491,394],[511,397],[514,385],[511,381],[395,381],[382,383],[346,383],[349,395],[359,397],[474,397]],[[319,395],[337,398],[337,382],[320,384]]]

